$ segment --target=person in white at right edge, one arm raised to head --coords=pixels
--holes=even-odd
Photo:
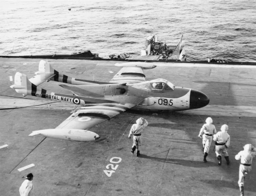
[[[240,151],[236,156],[236,160],[241,160],[239,167],[238,186],[241,196],[244,196],[244,178],[247,173],[252,170],[252,159],[256,156],[256,148],[252,144],[246,144],[244,150]]]

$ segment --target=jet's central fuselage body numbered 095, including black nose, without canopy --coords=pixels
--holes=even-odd
[[[197,90],[175,87],[174,90],[157,91],[141,89],[125,84],[100,85],[60,85],[80,96],[91,96],[120,103],[139,101],[133,109],[139,110],[186,110],[204,107],[209,103],[208,97]]]

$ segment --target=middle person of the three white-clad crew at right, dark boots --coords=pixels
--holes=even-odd
[[[223,124],[220,128],[221,131],[213,135],[213,140],[215,141],[215,153],[218,159],[218,165],[221,165],[221,156],[223,155],[229,165],[229,157],[227,149],[230,145],[230,136],[228,135],[228,125]]]

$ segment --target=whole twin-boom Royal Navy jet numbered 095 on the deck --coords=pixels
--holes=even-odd
[[[76,79],[56,71],[49,62],[41,60],[39,71],[28,79],[17,72],[14,85],[10,86],[24,96],[32,95],[82,105],[55,129],[33,131],[30,136],[41,134],[64,140],[95,141],[99,135],[87,129],[109,120],[127,109],[148,111],[178,111],[206,106],[209,98],[191,88],[176,87],[166,79],[145,80],[143,69],[156,65],[144,62],[115,64],[122,67],[110,82]],[[57,81],[73,95],[53,93],[37,86],[44,81]]]

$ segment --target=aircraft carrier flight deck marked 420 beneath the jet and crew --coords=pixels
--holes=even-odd
[[[239,161],[243,146],[256,146],[256,66],[228,64],[179,64],[154,62],[144,70],[146,80],[167,79],[175,86],[202,91],[210,103],[201,109],[180,112],[129,110],[89,129],[100,135],[95,142],[66,141],[28,136],[51,129],[79,106],[26,96],[10,86],[16,72],[28,78],[38,71],[39,59],[0,58],[0,192],[16,196],[28,173],[33,173],[33,194],[38,196],[99,195],[239,195]],[[120,70],[116,61],[50,59],[58,71],[80,79],[108,82]],[[120,62],[122,63],[122,62]],[[11,77],[12,76],[12,77]],[[57,82],[40,87],[69,93]],[[147,119],[141,156],[131,154],[128,134],[139,118]],[[203,162],[198,133],[207,117],[217,131],[228,124],[231,164],[218,166],[214,143]],[[18,169],[34,164],[33,167]],[[245,178],[245,195],[256,194],[256,162]]]

